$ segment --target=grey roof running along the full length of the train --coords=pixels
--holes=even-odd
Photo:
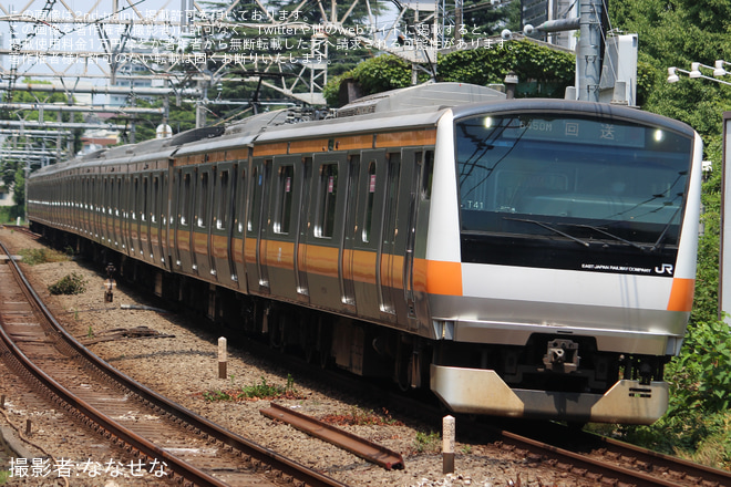
[[[588,110],[587,110],[588,107]],[[171,138],[152,139],[97,151],[33,174],[52,174],[56,169],[86,164],[120,164],[192,155],[255,142],[291,141],[343,133],[366,133],[435,125],[446,110],[456,118],[486,112],[581,112],[659,124],[692,136],[693,129],[682,122],[606,103],[549,99],[513,99],[485,86],[467,83],[425,83],[364,96],[332,112],[284,108],[260,113],[227,127],[194,128]]]

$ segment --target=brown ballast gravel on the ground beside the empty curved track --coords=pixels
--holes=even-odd
[[[11,251],[45,248],[42,240],[33,240],[9,228],[0,229],[0,241]],[[590,483],[570,474],[560,473],[540,464],[501,449],[494,444],[457,443],[455,446],[455,472],[443,474],[440,424],[424,424],[402,415],[392,416],[378,404],[361,404],[325,384],[313,383],[298,376],[298,371],[286,370],[277,363],[267,363],[245,350],[228,350],[227,376],[218,379],[217,341],[218,335],[210,331],[205,319],[187,314],[176,314],[159,310],[145,297],[120,284],[114,291],[113,302],[105,302],[103,268],[89,261],[65,260],[34,266],[22,263],[37,292],[44,299],[59,321],[78,340],[93,342],[89,348],[114,367],[145,384],[185,407],[205,416],[220,426],[253,439],[254,442],[287,456],[302,465],[316,468],[349,486],[588,486]],[[86,281],[86,290],[76,296],[51,296],[48,286],[65,276],[76,272]],[[123,307],[124,305],[124,307]],[[128,330],[146,327],[161,338],[117,338],[101,341],[114,330]],[[264,346],[264,345],[261,345]],[[34,434],[32,443],[41,446],[54,457],[86,458],[93,450],[84,446],[74,452],[73,442],[60,444],[59,437],[74,437],[73,431],[81,426],[64,419],[59,412],[45,411],[35,401],[18,396],[19,380],[0,361],[0,394],[6,396],[11,407],[2,410],[0,425],[16,428],[24,417],[32,415]],[[10,383],[12,382],[12,384]],[[401,453],[405,468],[385,470],[379,466],[312,438],[284,423],[272,422],[259,413],[268,407],[270,400],[227,400],[226,394],[246,387],[269,385],[286,387],[290,384],[297,394],[292,398],[278,398],[279,404],[296,408],[300,413],[318,418],[326,415],[375,414],[383,421],[377,425],[339,426],[352,434],[381,444]],[[13,385],[16,384],[16,385]],[[35,408],[37,411],[31,411]],[[134,411],[130,412],[135,414]],[[457,423],[457,433],[460,425]],[[63,428],[71,432],[62,433]],[[10,428],[12,429],[12,428]],[[89,434],[85,433],[86,436]],[[92,434],[93,438],[93,434]],[[93,442],[93,439],[92,439]],[[100,438],[101,443],[102,439]],[[22,443],[22,442],[21,442]],[[28,445],[30,452],[33,447]],[[33,453],[33,455],[40,455]],[[11,457],[12,458],[12,457]],[[2,460],[3,457],[0,457]],[[106,462],[96,458],[95,462]],[[8,457],[4,458],[9,463]],[[30,462],[30,460],[29,460]],[[54,484],[38,485],[96,485],[123,487],[156,485],[156,479],[100,476],[58,479]],[[8,485],[33,485],[31,479],[9,479]]]

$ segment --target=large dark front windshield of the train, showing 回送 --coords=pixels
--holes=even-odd
[[[627,121],[531,114],[463,118],[455,138],[467,260],[586,268],[594,261],[587,251],[615,262],[665,253],[649,259],[659,262],[677,248],[688,136]],[[579,249],[578,260],[562,257]],[[516,252],[522,257],[508,257]],[[639,257],[629,261],[649,268]]]

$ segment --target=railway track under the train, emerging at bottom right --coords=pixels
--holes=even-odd
[[[6,280],[0,276],[0,282]],[[4,291],[0,290],[0,293]],[[257,353],[261,353],[260,348],[257,348]],[[264,352],[265,355],[268,353]],[[278,352],[270,353],[285,367],[302,371],[303,364],[300,360]],[[329,371],[319,367],[313,370],[316,372],[309,374],[312,379],[322,381],[325,374],[327,381],[338,383],[338,388],[370,398],[382,397],[380,401],[388,403],[390,410],[408,412],[410,417],[420,415],[428,422],[437,424],[444,414],[436,410],[424,408],[420,402],[409,401],[401,395],[392,394],[385,398],[389,394],[383,388],[378,386],[368,388],[369,386],[359,381],[353,384],[352,377],[330,374]],[[457,432],[470,431],[473,439],[476,438],[482,444],[494,444],[516,458],[523,458],[526,470],[529,472],[538,466],[554,468],[576,477],[580,485],[731,486],[731,474],[728,472],[707,468],[608,438],[577,434],[557,425],[542,423],[536,427],[536,423],[532,423],[526,429],[519,427],[519,424],[524,423],[518,423],[515,428],[490,427],[481,423],[471,423],[466,418],[459,418],[459,423]],[[457,472],[459,467],[457,460]]]

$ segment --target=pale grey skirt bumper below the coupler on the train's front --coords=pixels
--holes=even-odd
[[[652,424],[668,408],[668,384],[620,380],[605,394],[511,388],[495,371],[431,366],[431,388],[455,413],[579,423]]]

